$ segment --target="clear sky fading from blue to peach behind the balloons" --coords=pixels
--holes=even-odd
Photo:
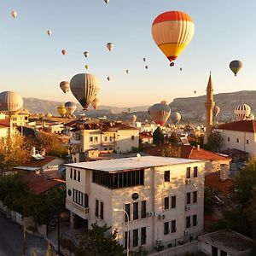
[[[77,102],[61,91],[60,82],[93,73],[100,79],[102,105],[129,108],[205,95],[210,70],[216,94],[255,90],[255,9],[255,0],[2,0],[0,91]],[[194,38],[174,67],[151,34],[154,18],[169,10],[195,22]],[[108,42],[114,44],[111,52]],[[229,63],[236,59],[243,68],[235,77]]]

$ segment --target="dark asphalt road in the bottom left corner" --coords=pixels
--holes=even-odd
[[[21,227],[8,218],[3,217],[0,212],[0,256],[20,256],[21,255]],[[47,242],[38,236],[26,234],[26,256],[31,256],[35,251],[37,256],[44,256]]]

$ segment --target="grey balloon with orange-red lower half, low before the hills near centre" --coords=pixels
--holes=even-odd
[[[164,103],[156,103],[148,108],[148,113],[151,115],[156,125],[165,125],[170,117],[171,108]]]

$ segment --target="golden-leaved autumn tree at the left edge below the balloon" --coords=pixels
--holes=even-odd
[[[30,158],[31,148],[26,140],[18,135],[2,138],[0,141],[0,170],[12,170],[15,166],[26,163]]]

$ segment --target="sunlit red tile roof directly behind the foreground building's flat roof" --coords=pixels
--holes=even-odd
[[[161,146],[153,146],[146,150],[147,154],[154,156],[160,156],[161,151],[166,148],[168,144]],[[196,159],[196,160],[231,160],[230,157],[225,157],[223,155],[208,151],[203,148],[196,148],[194,146],[188,145],[172,145],[174,147],[181,147],[181,157],[186,159]]]

